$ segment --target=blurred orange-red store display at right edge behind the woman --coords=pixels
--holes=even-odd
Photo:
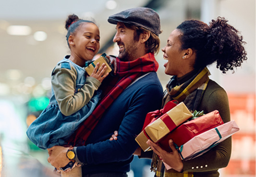
[[[240,131],[232,135],[231,160],[222,172],[225,177],[255,177],[256,95],[228,94],[228,96],[231,119],[237,122]]]

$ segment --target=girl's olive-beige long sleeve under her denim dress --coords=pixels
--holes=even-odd
[[[66,69],[57,65],[51,78],[55,98],[61,113],[65,116],[70,116],[85,106],[101,85],[97,79],[87,77],[85,84],[75,94],[77,71],[72,65],[70,66],[71,69]]]

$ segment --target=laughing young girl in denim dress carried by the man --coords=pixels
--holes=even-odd
[[[98,87],[108,75],[103,75],[105,64],[99,68],[99,63],[90,77],[85,73],[85,62],[93,59],[99,49],[98,26],[73,14],[68,16],[65,28],[71,55],[65,56],[53,69],[49,106],[26,131],[28,138],[41,149],[65,144],[65,140],[96,107],[101,94]],[[70,171],[73,164],[63,169]],[[68,173],[72,173],[69,174],[72,177],[81,177],[81,167],[75,167]],[[68,173],[61,172],[61,176]]]

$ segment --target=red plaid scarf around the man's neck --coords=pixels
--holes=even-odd
[[[119,77],[115,77],[110,80],[110,82],[102,83],[101,88],[104,91],[103,99],[92,114],[86,118],[79,128],[73,133],[68,144],[73,146],[85,145],[87,138],[96,127],[99,119],[103,116],[103,113],[122,93],[122,91],[145,73],[151,71],[156,72],[158,70],[158,66],[154,53],[147,53],[141,58],[128,62],[123,62],[117,58],[117,75]]]

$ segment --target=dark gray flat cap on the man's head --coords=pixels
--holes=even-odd
[[[109,17],[108,22],[110,24],[117,24],[118,22],[134,24],[144,27],[156,35],[161,33],[158,13],[146,7],[132,8],[116,13]]]

